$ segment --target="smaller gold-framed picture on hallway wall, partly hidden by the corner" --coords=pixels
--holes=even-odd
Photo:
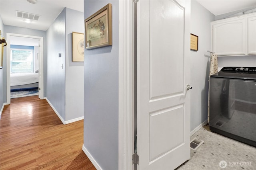
[[[84,33],[72,32],[72,61],[84,62]]]

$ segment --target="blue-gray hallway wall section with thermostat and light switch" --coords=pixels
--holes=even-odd
[[[46,97],[65,120],[65,16],[66,9],[46,31]],[[61,57],[58,54],[61,53]],[[63,64],[63,68],[61,67]]]

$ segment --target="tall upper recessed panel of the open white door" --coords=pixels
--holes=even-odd
[[[170,0],[150,1],[151,99],[183,92],[183,40],[184,8]]]

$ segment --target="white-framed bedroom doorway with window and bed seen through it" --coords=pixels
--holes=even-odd
[[[44,99],[44,46],[43,37],[6,33],[6,103],[10,104],[11,91],[34,93]],[[23,53],[23,57],[14,57]],[[18,93],[16,95],[19,95]]]

